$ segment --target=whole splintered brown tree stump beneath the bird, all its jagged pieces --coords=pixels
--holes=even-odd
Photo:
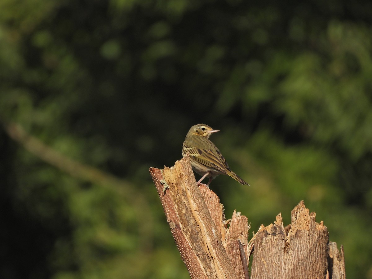
[[[172,235],[191,278],[344,279],[344,253],[328,243],[327,227],[315,222],[301,201],[284,227],[281,214],[274,224],[261,225],[248,241],[247,217],[235,212],[225,219],[218,196],[197,185],[189,158],[163,170],[150,168]]]

